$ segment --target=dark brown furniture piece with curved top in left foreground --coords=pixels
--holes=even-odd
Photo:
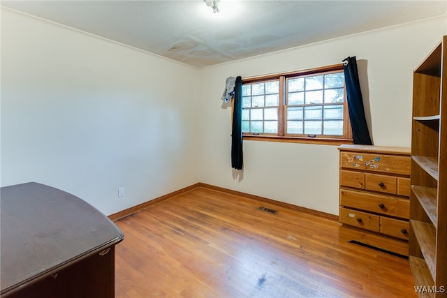
[[[115,223],[43,184],[0,195],[2,298],[115,297],[115,245],[124,239]]]

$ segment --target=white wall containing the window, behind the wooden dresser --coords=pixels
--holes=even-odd
[[[447,33],[446,17],[328,40],[200,71],[203,119],[200,181],[338,214],[336,146],[244,142],[244,170],[230,163],[226,77],[252,77],[341,63],[356,56],[374,144],[411,144],[412,73]]]

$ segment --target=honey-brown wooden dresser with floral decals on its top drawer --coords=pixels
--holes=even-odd
[[[342,145],[339,239],[409,255],[410,149]]]

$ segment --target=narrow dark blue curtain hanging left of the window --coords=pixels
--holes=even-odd
[[[242,77],[236,77],[231,132],[231,167],[242,170]]]

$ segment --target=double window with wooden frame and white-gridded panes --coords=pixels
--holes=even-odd
[[[343,65],[244,79],[244,139],[352,142]]]

